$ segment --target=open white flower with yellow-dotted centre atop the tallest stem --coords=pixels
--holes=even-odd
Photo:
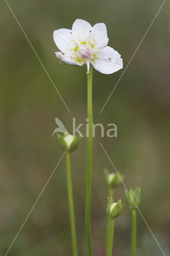
[[[120,54],[108,44],[104,23],[93,27],[85,20],[77,19],[72,30],[61,28],[54,31],[54,42],[61,52],[55,52],[57,58],[70,65],[82,66],[90,63],[103,74],[112,74],[123,68]]]

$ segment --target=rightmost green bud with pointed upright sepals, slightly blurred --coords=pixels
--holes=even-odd
[[[124,190],[126,200],[130,208],[137,208],[140,204],[140,188],[136,188],[135,191],[132,188],[129,190]]]

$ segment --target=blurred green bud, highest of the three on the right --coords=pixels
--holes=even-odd
[[[121,172],[109,173],[107,169],[104,169],[104,176],[107,186],[111,188],[115,188],[124,180],[124,175]]]

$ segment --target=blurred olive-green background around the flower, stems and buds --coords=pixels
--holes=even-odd
[[[16,18],[54,81],[64,106],[38,58],[10,12],[0,2],[0,256],[38,198],[63,151],[55,134],[57,116],[69,132],[72,118],[86,123],[86,66],[58,65],[52,33],[70,28],[76,18],[107,26],[109,46],[123,58],[124,68],[158,12],[163,0],[44,1],[9,0]],[[142,212],[166,255],[170,254],[170,3],[166,1],[110,100],[123,70],[112,75],[93,72],[94,123],[115,123],[118,138],[93,145],[92,239],[95,256],[104,255],[107,188],[104,167],[113,172],[100,142],[127,188],[141,188]],[[86,138],[71,154],[79,255],[85,256]],[[131,211],[124,186],[115,200],[124,208],[115,220],[115,256],[130,255]],[[163,255],[138,214],[138,256]],[[65,157],[45,188],[9,256],[71,256]]]

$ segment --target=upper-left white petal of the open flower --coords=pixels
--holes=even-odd
[[[64,53],[69,52],[70,49],[73,50],[75,47],[72,31],[70,29],[61,28],[55,30],[53,38],[58,49]]]

